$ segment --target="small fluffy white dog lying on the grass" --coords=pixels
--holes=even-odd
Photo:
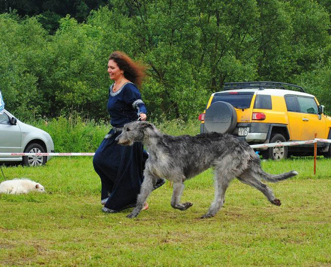
[[[0,193],[4,194],[26,194],[30,191],[45,192],[39,182],[29,179],[12,179],[0,183]]]

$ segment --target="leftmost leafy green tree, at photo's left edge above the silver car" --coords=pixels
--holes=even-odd
[[[35,18],[20,21],[15,15],[0,15],[0,88],[8,110],[41,114],[43,95],[32,66],[41,67],[46,38]]]

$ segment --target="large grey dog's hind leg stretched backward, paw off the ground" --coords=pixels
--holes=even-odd
[[[255,174],[253,171],[247,169],[245,170],[239,177],[238,179],[246,183],[258,190],[260,190],[266,197],[267,199],[274,205],[280,206],[281,201],[277,198],[275,198],[274,193],[272,192],[271,188],[269,188],[266,184],[255,178],[257,174]]]

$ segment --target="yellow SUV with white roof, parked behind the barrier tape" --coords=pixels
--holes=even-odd
[[[300,90],[300,91],[298,91]],[[331,117],[316,97],[296,85],[278,82],[225,83],[213,93],[200,132],[229,133],[249,144],[331,139]],[[318,142],[319,155],[331,157],[330,143]],[[265,159],[310,155],[313,144],[256,149]]]

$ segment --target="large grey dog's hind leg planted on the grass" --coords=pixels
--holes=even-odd
[[[201,219],[214,217],[215,214],[222,208],[224,204],[225,191],[229,187],[230,181],[233,177],[228,175],[221,175],[221,171],[215,171],[214,176],[214,187],[215,187],[215,197],[214,201],[211,203],[208,212],[201,217]]]

